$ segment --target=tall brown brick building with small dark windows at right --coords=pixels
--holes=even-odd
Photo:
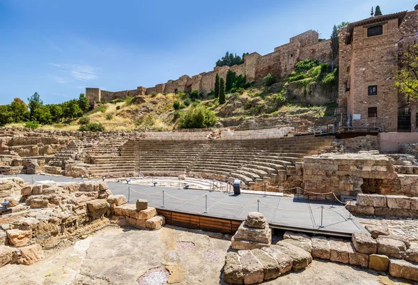
[[[343,125],[415,132],[417,105],[398,92],[398,43],[417,35],[418,11],[370,17],[340,30]]]

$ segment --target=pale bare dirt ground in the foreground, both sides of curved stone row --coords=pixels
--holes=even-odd
[[[169,282],[224,284],[220,279],[230,245],[228,240],[171,226],[158,231],[107,227],[68,247],[48,251],[47,258],[34,265],[0,268],[0,284],[134,285],[150,268],[165,265],[171,271]],[[157,284],[148,282],[141,284]],[[314,261],[303,271],[263,284],[410,284],[403,282],[373,270]]]

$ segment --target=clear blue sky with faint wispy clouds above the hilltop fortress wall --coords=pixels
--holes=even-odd
[[[212,70],[226,51],[268,54],[309,29],[413,10],[416,0],[0,0],[0,104],[86,87],[151,87]]]

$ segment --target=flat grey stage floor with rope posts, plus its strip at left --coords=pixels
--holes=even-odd
[[[42,175],[19,175],[26,182],[54,180],[61,182],[81,181],[81,178],[68,178]],[[170,187],[127,185],[126,183],[108,183],[114,194],[129,196],[131,203],[137,199],[147,199],[155,208],[176,210],[184,213],[245,219],[249,212],[263,213],[272,226],[326,231],[328,233],[351,234],[366,231],[343,207],[325,201],[266,196],[263,194],[234,195],[225,192],[202,190],[178,190]],[[130,189],[130,190],[129,190]],[[164,201],[163,201],[164,197]],[[207,213],[205,213],[207,212]]]

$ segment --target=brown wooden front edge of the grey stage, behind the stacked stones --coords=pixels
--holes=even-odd
[[[243,219],[229,219],[224,217],[215,217],[213,215],[199,215],[177,210],[167,210],[165,208],[156,208],[158,215],[165,217],[166,224],[170,226],[180,226],[187,229],[199,229],[202,231],[211,231],[214,233],[235,234]],[[297,226],[284,226],[279,224],[270,224],[272,229],[283,229],[287,231],[297,231],[304,233],[314,233],[321,236],[338,236],[351,238],[351,233],[341,233],[336,231],[327,231],[325,229],[307,229]]]

